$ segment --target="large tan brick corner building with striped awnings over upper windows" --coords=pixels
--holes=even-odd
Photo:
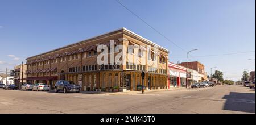
[[[149,49],[153,46],[158,49]],[[101,57],[105,51],[109,52],[107,57]],[[99,64],[98,59],[108,61]],[[26,60],[26,80],[30,83],[44,82],[53,87],[57,80],[68,80],[79,84],[82,90],[113,87],[137,90],[137,86],[142,85],[144,70],[146,89],[167,88],[168,50],[126,28]]]

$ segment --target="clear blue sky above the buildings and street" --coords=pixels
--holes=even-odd
[[[130,10],[192,56],[255,51],[255,0],[121,0]],[[0,0],[0,70],[26,57],[126,27],[170,50],[170,61],[184,62],[177,48],[115,0]],[[9,55],[9,56],[8,56]],[[210,74],[217,66],[225,78],[240,80],[255,70],[255,52],[200,61]]]

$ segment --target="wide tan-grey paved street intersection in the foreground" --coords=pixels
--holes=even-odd
[[[106,95],[0,89],[0,113],[255,113],[255,89],[220,85]]]

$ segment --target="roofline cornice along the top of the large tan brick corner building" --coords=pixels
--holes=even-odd
[[[128,29],[125,28],[125,27],[122,27],[122,28],[118,28],[117,30],[114,30],[114,31],[106,32],[106,33],[101,34],[101,35],[93,36],[93,37],[91,37],[91,38],[88,38],[88,39],[85,39],[85,40],[82,40],[82,41],[78,41],[78,42],[76,42],[76,43],[72,43],[72,44],[68,44],[68,45],[65,45],[65,46],[60,47],[60,48],[52,49],[51,51],[47,51],[47,52],[43,52],[43,53],[40,53],[40,54],[35,55],[35,56],[27,57],[27,59],[31,59],[31,58],[36,57],[36,56],[41,56],[41,55],[44,55],[44,54],[49,53],[49,52],[58,51],[58,50],[60,50],[60,49],[64,49],[64,48],[67,48],[67,47],[71,47],[71,46],[74,45],[74,44],[80,44],[80,43],[82,43],[82,42],[84,42],[84,41],[87,41],[87,40],[90,40],[90,39],[94,39],[94,38],[98,38],[98,37],[100,37],[100,36],[104,36],[104,35],[111,34],[111,33],[113,33],[113,32],[117,32],[117,31],[121,31],[121,30],[130,32],[131,34],[133,34],[133,35],[135,35],[135,36],[138,36],[139,38],[141,38],[141,39],[147,41],[148,43],[151,43],[151,44],[154,44],[154,45],[158,45],[158,44],[156,44],[156,43],[154,43],[154,42],[152,42],[152,41],[150,41],[150,40],[148,40],[148,39],[146,39],[146,38],[143,38],[142,36],[140,36],[140,35],[138,35],[138,34],[135,34],[133,31],[130,31],[130,30],[128,30]],[[164,51],[169,52],[168,49],[163,48],[163,47],[161,47],[160,45],[158,45],[158,47],[164,49]],[[27,60],[27,59],[26,59],[26,60]]]

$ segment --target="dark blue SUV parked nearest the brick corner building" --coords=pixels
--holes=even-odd
[[[55,93],[59,91],[63,91],[64,93],[69,93],[69,92],[79,93],[80,86],[76,85],[72,81],[59,80],[56,82],[54,90],[55,90]]]

